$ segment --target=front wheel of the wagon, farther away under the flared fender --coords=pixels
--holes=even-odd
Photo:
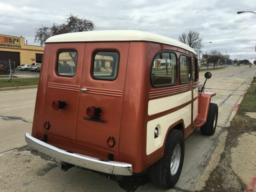
[[[215,123],[214,123],[214,119],[216,119]],[[217,120],[218,120],[218,105],[215,103],[210,103],[206,123],[200,128],[201,133],[209,136],[213,135],[216,130]]]

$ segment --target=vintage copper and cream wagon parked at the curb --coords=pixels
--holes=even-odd
[[[152,183],[170,188],[182,170],[184,140],[196,128],[215,132],[215,93],[198,86],[196,52],[176,40],[132,30],[53,36],[25,139],[65,170],[148,169]]]

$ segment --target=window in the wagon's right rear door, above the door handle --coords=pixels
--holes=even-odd
[[[102,51],[94,54],[92,76],[95,79],[114,80],[118,74],[119,54]]]

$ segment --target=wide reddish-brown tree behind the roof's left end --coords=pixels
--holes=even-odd
[[[95,25],[92,21],[87,20],[85,18],[78,18],[78,16],[74,16],[70,14],[65,23],[56,24],[54,23],[52,27],[41,26],[37,29],[35,34],[34,42],[40,43],[40,45],[44,45],[44,42],[51,36],[64,34],[64,33],[72,33],[72,32],[82,32],[82,31],[92,31],[95,29]]]

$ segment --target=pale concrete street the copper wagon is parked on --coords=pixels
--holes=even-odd
[[[226,126],[234,107],[256,76],[256,66],[230,66],[212,71],[206,90],[216,92],[219,106],[216,133],[203,136],[196,130],[185,141],[185,160],[180,179],[169,191],[201,190],[225,140]],[[200,73],[204,82],[204,73]],[[60,170],[55,162],[18,148],[26,145],[25,132],[31,132],[36,89],[0,92],[0,191],[163,191],[148,182],[147,176],[111,177],[71,168]]]

